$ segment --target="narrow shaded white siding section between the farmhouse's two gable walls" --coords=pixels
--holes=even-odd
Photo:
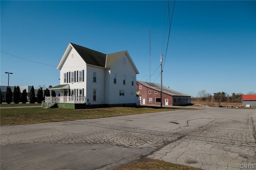
[[[96,83],[93,82],[93,72],[96,71]],[[86,71],[86,99],[91,105],[105,104],[105,69],[87,65]],[[96,89],[96,101],[93,101],[93,89]]]

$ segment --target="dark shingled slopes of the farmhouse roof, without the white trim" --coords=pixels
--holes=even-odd
[[[111,67],[126,51],[104,54],[92,49],[70,43],[84,61],[100,67]]]

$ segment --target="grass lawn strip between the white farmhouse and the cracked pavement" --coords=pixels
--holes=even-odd
[[[110,107],[98,109],[42,109],[11,108],[0,110],[0,125],[26,125],[58,121],[73,121],[81,119],[97,119],[142,113],[176,111],[185,108],[158,108],[158,107]]]

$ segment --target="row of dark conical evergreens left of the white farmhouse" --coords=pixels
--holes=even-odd
[[[3,99],[2,99],[2,91],[1,91],[1,88],[0,88],[0,98],[1,98],[1,101],[0,103],[2,104],[3,102]],[[35,95],[35,89],[34,89],[34,86],[31,87],[30,89],[30,93],[28,94],[28,97],[29,97],[29,103],[42,103],[42,101],[44,101],[45,97],[50,97],[50,90],[48,88],[44,89],[44,93],[43,93],[43,89],[42,87],[38,88],[38,91],[37,91],[37,95]],[[54,90],[52,90],[52,97],[56,97],[56,93]],[[15,104],[18,104],[18,103],[26,103],[28,101],[27,99],[27,90],[24,89],[21,93],[21,96],[20,96],[20,87],[19,86],[14,86],[14,90],[13,90],[13,94],[12,94],[12,89],[8,86],[6,88],[6,103],[10,104],[12,103],[15,103]]]

